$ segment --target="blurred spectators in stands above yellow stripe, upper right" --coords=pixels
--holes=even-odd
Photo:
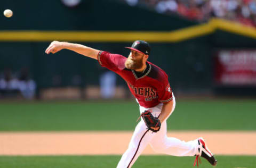
[[[256,26],[256,0],[124,0],[131,6],[143,5],[159,13],[177,13],[191,20],[211,17]]]

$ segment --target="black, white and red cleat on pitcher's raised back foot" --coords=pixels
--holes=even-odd
[[[194,162],[194,166],[197,163],[197,167],[198,167],[198,159],[199,162],[201,163],[201,159],[199,156],[205,158],[211,165],[215,166],[217,165],[217,159],[214,158],[213,154],[211,153],[211,151],[207,148],[205,140],[203,138],[198,138],[198,154],[196,155],[196,159]]]

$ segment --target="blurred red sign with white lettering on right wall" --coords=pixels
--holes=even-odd
[[[222,50],[215,60],[218,85],[256,86],[256,50]]]

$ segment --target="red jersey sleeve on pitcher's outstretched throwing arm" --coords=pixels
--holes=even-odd
[[[124,69],[126,57],[119,54],[111,54],[109,52],[100,51],[98,54],[99,64],[111,71]]]

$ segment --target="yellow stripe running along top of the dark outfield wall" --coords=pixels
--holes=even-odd
[[[215,29],[256,38],[256,29],[222,19],[174,31],[0,31],[0,41],[84,41],[130,42],[143,39],[149,42],[178,42],[208,35]]]

